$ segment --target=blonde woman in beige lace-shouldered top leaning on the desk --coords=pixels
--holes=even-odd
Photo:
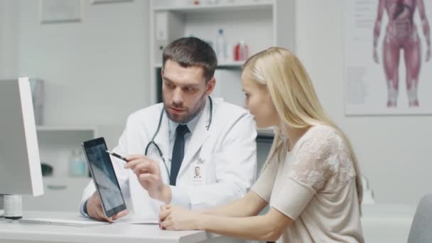
[[[202,212],[163,205],[161,228],[277,242],[364,242],[357,159],[300,60],[284,48],[263,50],[244,63],[242,87],[257,126],[276,130],[257,182],[244,198]]]

